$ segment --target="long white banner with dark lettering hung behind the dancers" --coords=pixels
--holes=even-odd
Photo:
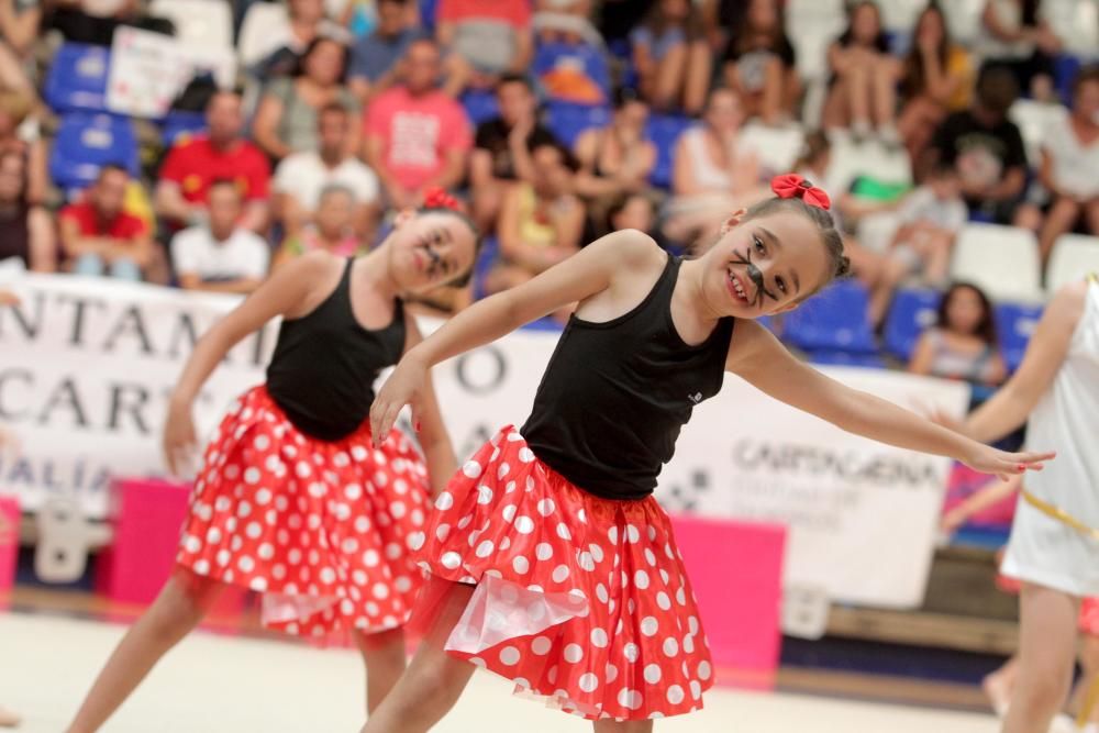
[[[237,300],[71,276],[19,276],[10,287],[23,304],[0,309],[0,424],[21,449],[0,456],[0,491],[32,510],[64,492],[104,517],[111,475],[164,470],[168,393],[196,336]],[[201,435],[263,380],[276,329],[214,371],[196,407]],[[504,424],[522,425],[556,342],[520,331],[436,367],[459,456]],[[968,397],[964,385],[900,373],[825,371],[909,408],[961,414]],[[696,409],[657,497],[670,511],[786,524],[787,586],[910,608],[922,600],[948,466],[843,433],[730,376]]]

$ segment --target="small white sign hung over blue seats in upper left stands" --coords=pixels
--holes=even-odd
[[[116,114],[163,118],[200,71],[219,86],[232,86],[236,58],[230,49],[184,44],[162,33],[125,25],[114,32],[107,108]]]

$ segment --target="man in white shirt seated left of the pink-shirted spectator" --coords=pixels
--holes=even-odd
[[[276,207],[287,236],[293,236],[317,213],[321,191],[342,186],[355,197],[355,233],[374,241],[378,223],[378,177],[347,148],[351,119],[341,104],[324,107],[317,116],[320,149],[295,153],[275,171]]]

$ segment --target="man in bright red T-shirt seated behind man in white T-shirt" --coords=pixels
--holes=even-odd
[[[177,142],[165,158],[156,185],[157,214],[174,229],[202,224],[208,218],[210,185],[229,179],[247,202],[241,226],[264,233],[270,165],[258,147],[241,136],[241,96],[215,93],[207,104],[207,134]]]

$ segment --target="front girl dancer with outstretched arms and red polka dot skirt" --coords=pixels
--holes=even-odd
[[[402,358],[371,408],[375,434],[409,402],[419,414],[431,365],[579,303],[526,424],[478,451],[411,538],[431,574],[420,602],[437,613],[368,733],[426,731],[475,666],[597,731],[648,731],[648,719],[701,706],[713,669],[652,491],[691,409],[726,370],[845,430],[980,470],[1051,457],[996,451],[832,381],[755,324],[846,267],[828,197],[800,176],[773,188],[778,197],[733,214],[698,259],[669,257],[634,230],[609,234]]]

